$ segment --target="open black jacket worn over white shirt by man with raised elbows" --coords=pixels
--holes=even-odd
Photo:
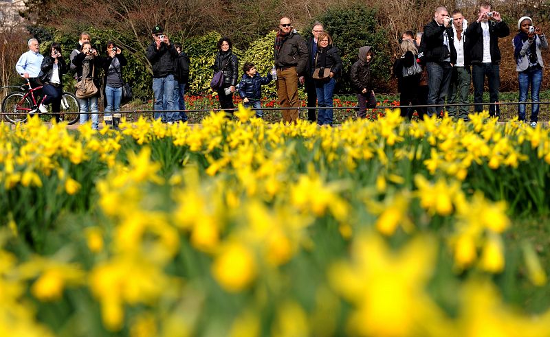
[[[500,62],[500,49],[498,48],[498,38],[503,38],[510,34],[510,29],[504,21],[489,21],[489,50],[491,51],[491,62]],[[481,23],[474,21],[470,23],[464,33],[464,54],[470,56],[471,63],[483,62],[483,30]]]

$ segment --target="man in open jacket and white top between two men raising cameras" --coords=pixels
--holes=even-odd
[[[452,31],[454,33],[454,49],[456,50],[456,64],[452,67],[451,82],[449,85],[449,93],[447,95],[448,104],[468,103],[468,95],[470,94],[470,82],[472,75],[470,73],[470,60],[464,52],[464,33],[467,27],[467,21],[464,19],[460,10],[454,10],[452,17]],[[447,108],[449,115],[454,119],[468,120],[470,107],[449,106]]]

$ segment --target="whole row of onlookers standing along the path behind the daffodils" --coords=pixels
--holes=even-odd
[[[468,120],[470,112],[470,84],[474,86],[474,111],[483,110],[485,79],[489,88],[489,114],[500,115],[498,87],[500,85],[500,48],[498,39],[508,36],[510,29],[492,5],[482,2],[477,8],[477,17],[467,21],[460,10],[449,14],[444,7],[434,11],[434,18],[423,27],[423,32],[404,32],[401,55],[395,60],[393,74],[398,81],[401,116],[412,117],[414,111],[420,119],[425,115],[442,115],[448,111],[455,119]],[[222,109],[232,113],[235,92],[245,106],[252,106],[257,117],[262,117],[261,86],[275,81],[278,102],[283,121],[298,119],[298,85],[305,84],[307,93],[307,118],[319,125],[333,123],[333,92],[336,80],[342,73],[340,50],[325,32],[322,23],[314,23],[311,38],[305,40],[292,26],[289,18],[283,17],[274,40],[274,67],[265,76],[259,74],[251,62],[239,68],[239,60],[232,53],[232,41],[223,37],[217,43],[213,66],[212,89],[217,91]],[[179,43],[172,43],[161,26],[153,27],[153,42],[146,49],[146,56],[153,69],[154,117],[171,124],[186,121],[184,93],[189,78],[189,58]],[[54,43],[51,54],[39,54],[38,41],[29,40],[29,51],[17,62],[17,71],[32,82],[43,84],[46,99],[38,107],[59,112],[63,88],[63,74],[70,65],[78,84],[84,88],[85,80],[91,78],[101,87],[105,97],[106,124],[118,127],[122,95],[122,69],[126,59],[120,47],[109,42],[105,56],[100,56],[90,45],[90,36],[80,34],[77,47],[69,62],[63,60],[61,46]],[[531,88],[531,101],[539,102],[542,82],[541,49],[548,42],[540,27],[528,16],[518,20],[518,33],[513,46],[516,71],[518,72],[519,102],[526,102]],[[375,76],[370,65],[375,57],[371,46],[360,47],[358,59],[351,67],[350,77],[358,98],[358,116],[366,117],[366,109],[376,105]],[[100,70],[104,75],[100,78]],[[243,73],[239,78],[239,73]],[[38,85],[38,84],[36,84]],[[78,89],[77,89],[78,91]],[[80,123],[91,113],[92,127],[98,128],[98,97],[79,98]],[[445,107],[445,104],[447,105]],[[408,107],[408,106],[415,107]],[[318,108],[317,108],[318,107]],[[532,104],[531,126],[538,121],[539,104]],[[518,104],[518,117],[525,120],[525,104]]]

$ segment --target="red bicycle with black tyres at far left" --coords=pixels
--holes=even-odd
[[[25,86],[29,86],[29,89],[26,89]],[[39,111],[39,105],[43,102],[45,97],[42,97],[42,99],[37,102],[34,97],[34,91],[42,89],[42,86],[32,88],[28,79],[25,86],[21,87],[23,92],[14,91],[9,93],[2,101],[3,116],[12,124],[25,123],[28,115],[41,113]],[[50,107],[48,107],[48,111],[51,113]],[[69,125],[75,124],[79,119],[79,112],[80,105],[78,104],[76,96],[64,91],[61,97],[60,121],[67,121]]]

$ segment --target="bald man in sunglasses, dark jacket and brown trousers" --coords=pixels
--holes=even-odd
[[[303,77],[307,66],[307,46],[305,40],[294,30],[290,19],[283,17],[275,37],[274,59],[277,69],[275,86],[279,104],[283,108],[283,121],[298,121],[298,76]]]

